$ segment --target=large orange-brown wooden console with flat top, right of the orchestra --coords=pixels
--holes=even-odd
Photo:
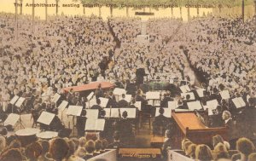
[[[214,135],[221,135],[225,141],[229,141],[226,127],[208,128],[195,112],[172,111],[172,118],[175,122],[175,135],[180,142],[186,137],[195,144],[207,144],[212,147],[212,136]],[[181,145],[177,145],[177,147],[181,148]]]

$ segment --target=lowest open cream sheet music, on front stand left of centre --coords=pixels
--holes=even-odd
[[[105,119],[87,119],[84,127],[85,131],[96,130],[102,131],[105,127]]]

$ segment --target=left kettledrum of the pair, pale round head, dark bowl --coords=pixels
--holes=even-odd
[[[38,140],[37,134],[40,132],[40,129],[26,128],[20,129],[15,132],[15,135],[21,142],[22,147],[26,147],[34,141]]]

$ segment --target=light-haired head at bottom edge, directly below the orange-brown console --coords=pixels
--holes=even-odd
[[[210,147],[207,145],[201,144],[196,146],[195,148],[195,159],[196,160],[204,160],[204,161],[210,161],[212,160],[212,152]]]

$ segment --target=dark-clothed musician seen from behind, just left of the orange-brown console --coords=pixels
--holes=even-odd
[[[159,113],[160,115],[155,117],[153,121],[153,135],[163,135],[168,124],[168,118],[164,116],[165,109],[160,107]]]

